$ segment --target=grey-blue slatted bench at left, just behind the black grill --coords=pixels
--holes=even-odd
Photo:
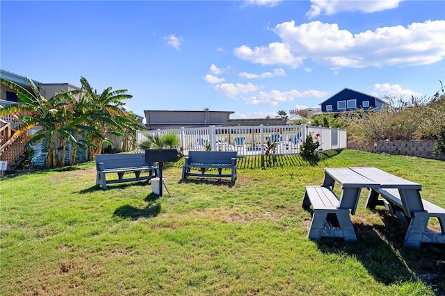
[[[149,180],[159,175],[156,163],[146,163],[145,154],[97,154],[96,185],[106,190],[106,184]],[[148,172],[147,176],[141,176]],[[117,173],[118,179],[106,180],[106,174]],[[133,178],[124,178],[125,173],[134,173]]]

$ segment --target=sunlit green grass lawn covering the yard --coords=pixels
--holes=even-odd
[[[266,168],[261,168],[261,165]],[[0,181],[0,295],[445,295],[445,246],[401,247],[382,209],[352,216],[357,242],[307,239],[305,185],[324,167],[375,166],[421,183],[445,207],[445,163],[362,151],[241,158],[238,180],[95,186],[95,164]],[[433,229],[439,227],[432,221]]]

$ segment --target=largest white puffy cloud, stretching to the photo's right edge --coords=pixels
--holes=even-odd
[[[445,58],[445,20],[392,26],[353,34],[337,24],[295,22],[277,24],[273,32],[282,42],[268,46],[242,45],[234,54],[262,65],[299,67],[307,58],[315,63],[342,67],[382,67],[384,65],[429,65]]]

